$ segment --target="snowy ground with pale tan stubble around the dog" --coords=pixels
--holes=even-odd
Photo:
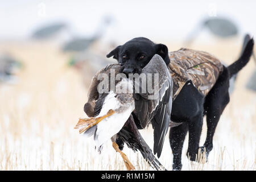
[[[239,46],[226,48],[197,45],[232,63]],[[240,45],[240,44],[239,44]],[[176,44],[168,45],[177,49]],[[222,47],[223,46],[223,47]],[[222,51],[225,47],[225,51]],[[49,43],[0,44],[24,63],[16,85],[0,85],[0,169],[1,170],[122,170],[122,158],[109,141],[102,154],[94,150],[92,138],[86,139],[75,127],[85,117],[83,106],[89,83],[67,66],[69,56]],[[108,51],[108,50],[106,50]],[[213,141],[209,162],[189,162],[183,148],[183,170],[255,170],[255,93],[245,89],[255,65],[253,61],[238,75],[236,89],[220,122]],[[89,79],[92,75],[88,75]],[[203,126],[200,143],[204,143],[207,127]],[[141,131],[153,146],[151,126]],[[188,137],[188,136],[187,136]],[[141,154],[127,146],[125,154],[136,169],[149,168]],[[172,152],[168,134],[159,161],[172,169]]]

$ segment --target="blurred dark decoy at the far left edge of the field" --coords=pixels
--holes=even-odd
[[[22,63],[15,60],[8,54],[0,55],[0,83],[8,82],[15,83],[18,78],[15,76],[15,72],[22,67]]]

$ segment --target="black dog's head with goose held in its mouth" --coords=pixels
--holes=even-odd
[[[142,68],[148,64],[151,58],[158,54],[168,65],[170,59],[168,48],[164,44],[155,44],[147,38],[134,38],[122,46],[116,47],[107,57],[113,56],[122,65],[121,72],[141,73]]]

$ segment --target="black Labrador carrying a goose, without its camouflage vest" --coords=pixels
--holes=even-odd
[[[170,129],[170,144],[174,155],[173,170],[180,170],[182,167],[181,151],[187,132],[188,158],[196,161],[199,151],[205,151],[206,155],[209,155],[213,148],[213,135],[217,123],[229,103],[229,79],[248,63],[253,46],[254,40],[250,39],[240,58],[229,67],[223,66],[223,71],[207,96],[200,94],[193,84],[186,83],[181,89],[172,103],[171,113],[171,121],[181,123]],[[155,54],[160,55],[167,65],[170,63],[167,46],[155,44],[147,38],[134,38],[115,48],[107,57],[113,56],[117,59],[122,65],[121,72],[129,74],[140,73]],[[204,115],[207,117],[207,138],[204,146],[199,147]],[[138,126],[138,129],[142,129],[141,126]],[[122,142],[117,140],[117,143],[120,148],[123,147]]]

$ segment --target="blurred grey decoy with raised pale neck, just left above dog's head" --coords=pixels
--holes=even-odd
[[[94,35],[90,38],[73,38],[68,43],[64,44],[63,51],[86,51],[92,43],[96,42],[98,39],[104,35],[106,28],[113,22],[112,16],[104,16],[100,24],[96,28]]]

